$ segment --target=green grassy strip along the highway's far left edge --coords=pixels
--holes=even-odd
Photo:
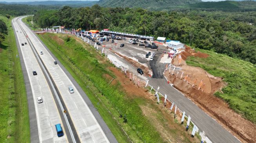
[[[0,142],[29,143],[29,115],[25,83],[11,20],[0,16],[8,35],[0,45]]]

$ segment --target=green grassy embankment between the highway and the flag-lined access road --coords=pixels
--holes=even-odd
[[[58,36],[64,39],[64,41],[56,38]],[[151,118],[143,116],[142,110],[140,109],[140,105],[147,105],[149,104],[148,101],[141,97],[128,97],[125,92],[123,92],[120,84],[108,86],[107,84],[111,79],[104,77],[106,74],[110,75],[111,78],[114,77],[112,72],[106,68],[107,66],[112,66],[112,64],[106,62],[92,46],[82,46],[73,38],[67,39],[64,35],[45,33],[44,35],[39,35],[39,37],[60,60],[69,73],[71,73],[78,84],[80,84],[91,102],[97,107],[100,115],[107,123],[118,142],[128,142],[129,140],[120,127],[127,132],[133,142],[163,142],[159,133],[151,124]],[[100,102],[98,98],[100,98],[102,102]],[[150,106],[156,109],[155,103],[150,104]],[[106,108],[111,111],[113,116],[120,123],[120,126],[113,120]],[[123,123],[123,118],[119,118],[120,113],[118,111],[120,111],[122,115],[127,115],[128,123]],[[163,118],[163,114],[160,114],[161,111],[158,110],[157,112],[159,113],[159,120],[166,121],[166,119]],[[159,122],[159,124],[166,127],[167,122]],[[183,129],[185,128],[183,127]],[[182,130],[177,132],[176,129],[172,129],[170,131],[172,141],[191,142],[190,139],[188,139],[190,136],[189,132],[183,132],[182,134],[180,134],[180,132],[182,132]],[[194,142],[193,139],[192,142]]]

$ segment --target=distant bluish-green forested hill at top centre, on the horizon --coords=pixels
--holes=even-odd
[[[161,10],[168,7],[177,7],[187,4],[196,4],[201,0],[100,0],[98,5],[102,7],[142,7],[145,9]]]

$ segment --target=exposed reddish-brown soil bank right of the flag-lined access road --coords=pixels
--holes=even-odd
[[[256,126],[230,109],[229,105],[225,104],[223,100],[213,95],[216,91],[221,91],[223,86],[226,85],[226,83],[222,81],[222,78],[214,77],[201,68],[188,66],[185,63],[188,56],[207,58],[209,55],[200,52],[196,53],[186,46],[181,56],[182,61],[180,66],[178,65],[178,56],[172,60],[173,65],[181,68],[178,74],[179,76],[176,77],[176,71],[174,75],[171,75],[169,71],[165,71],[167,79],[174,84],[176,89],[182,91],[187,97],[198,103],[200,105],[199,107],[210,113],[212,118],[218,119],[217,121],[226,129],[228,127],[227,130],[232,130],[232,134],[242,142],[255,143]],[[182,79],[180,79],[181,72],[184,72]],[[190,76],[190,82],[184,81],[186,75]],[[198,90],[202,79],[203,84],[201,89]],[[192,87],[192,84],[195,86]]]

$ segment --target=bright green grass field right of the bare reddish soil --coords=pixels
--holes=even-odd
[[[212,51],[196,50],[210,56],[189,57],[186,63],[203,68],[216,77],[223,77],[228,85],[222,89],[223,93],[216,92],[214,95],[224,99],[234,111],[255,124],[256,65]]]

